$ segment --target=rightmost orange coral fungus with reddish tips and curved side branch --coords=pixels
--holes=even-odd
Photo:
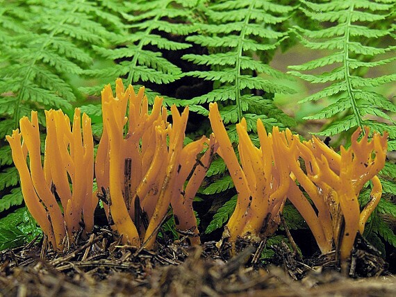
[[[317,162],[319,170],[307,170],[308,176],[318,187],[331,187],[333,189],[333,199],[340,205],[340,210],[345,221],[343,237],[340,245],[340,258],[346,260],[354,244],[357,232],[363,233],[365,222],[379,203],[381,198],[381,184],[376,174],[383,168],[386,158],[387,133],[382,136],[374,133],[372,140],[368,140],[369,130],[365,128],[365,135],[360,141],[358,137],[361,129],[352,135],[351,146],[344,148],[341,146],[340,157],[333,158],[334,167],[322,155],[311,162]],[[316,137],[311,142],[304,143],[311,151],[320,146],[322,151],[330,150],[326,148]],[[361,212],[358,203],[358,195],[365,183],[372,180],[373,187],[371,201],[365,205]]]

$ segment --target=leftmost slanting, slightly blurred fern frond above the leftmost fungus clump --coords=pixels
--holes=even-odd
[[[92,12],[101,10],[90,1],[28,1],[19,25],[24,30],[10,37],[3,47],[6,63],[0,69],[2,92],[15,100],[1,97],[7,105],[3,112],[17,121],[21,108],[64,108],[70,110],[76,90],[67,81],[70,74],[81,74],[92,62],[90,44],[104,42],[106,29],[92,20]],[[89,42],[89,43],[87,43]],[[7,87],[8,86],[8,90]],[[2,103],[2,102],[1,102]]]

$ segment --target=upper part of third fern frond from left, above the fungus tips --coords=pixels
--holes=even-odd
[[[245,114],[265,105],[265,98],[256,96],[254,107],[250,101],[254,90],[267,93],[294,92],[290,87],[274,78],[287,78],[285,74],[267,65],[267,60],[257,60],[253,51],[273,51],[287,35],[277,31],[292,11],[272,1],[222,1],[211,3],[204,11],[208,22],[199,24],[197,35],[186,38],[199,46],[205,46],[209,54],[187,54],[183,59],[196,65],[211,67],[209,71],[190,71],[186,75],[213,81],[214,90],[204,96],[191,99],[191,103],[202,104],[225,101],[220,112],[225,124],[236,123]],[[260,56],[261,53],[258,53]],[[257,104],[257,101],[262,101]],[[272,105],[274,108],[275,105]],[[254,111],[253,111],[254,109]],[[276,112],[281,115],[282,112]]]

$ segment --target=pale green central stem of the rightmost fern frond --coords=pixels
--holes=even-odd
[[[363,123],[361,120],[361,114],[357,108],[356,105],[356,99],[354,95],[354,88],[352,87],[352,83],[350,80],[350,74],[349,74],[349,27],[351,26],[352,22],[352,12],[354,11],[354,4],[352,4],[349,7],[348,10],[348,17],[347,21],[345,22],[345,35],[344,35],[344,75],[345,75],[345,81],[347,83],[347,92],[349,95],[349,98],[351,99],[351,106],[352,106],[352,111],[354,112],[354,116],[356,118],[356,123],[358,126],[362,128],[363,134],[364,134],[364,128],[363,128]]]

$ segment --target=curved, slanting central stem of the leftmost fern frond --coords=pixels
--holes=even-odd
[[[79,6],[81,5],[81,3],[85,2],[85,0],[82,1],[78,1],[76,3],[76,6],[74,6],[74,8],[71,10],[71,12],[76,12],[76,10],[79,9]],[[31,61],[31,64],[28,66],[28,69],[26,71],[26,74],[22,80],[21,83],[21,90],[19,90],[19,94],[17,96],[17,102],[15,103],[15,112],[14,112],[14,125],[15,127],[18,126],[18,122],[19,122],[19,118],[20,118],[20,113],[21,113],[21,108],[20,106],[22,105],[22,98],[23,98],[23,94],[26,91],[26,85],[28,85],[29,80],[30,80],[30,76],[32,74],[32,70],[33,70],[33,66],[35,65],[35,63],[38,61],[39,59],[39,55],[40,53],[42,53],[42,51],[44,51],[44,49],[49,46],[49,44],[51,43],[52,38],[58,34],[59,28],[60,26],[62,26],[63,24],[65,24],[65,22],[67,22],[68,19],[68,15],[65,16],[59,23],[58,26],[56,26],[56,28],[53,28],[53,30],[51,31],[51,33],[49,33],[48,37],[47,37],[47,41],[44,42],[40,49],[36,52],[36,56],[35,58],[33,58],[33,60]]]

